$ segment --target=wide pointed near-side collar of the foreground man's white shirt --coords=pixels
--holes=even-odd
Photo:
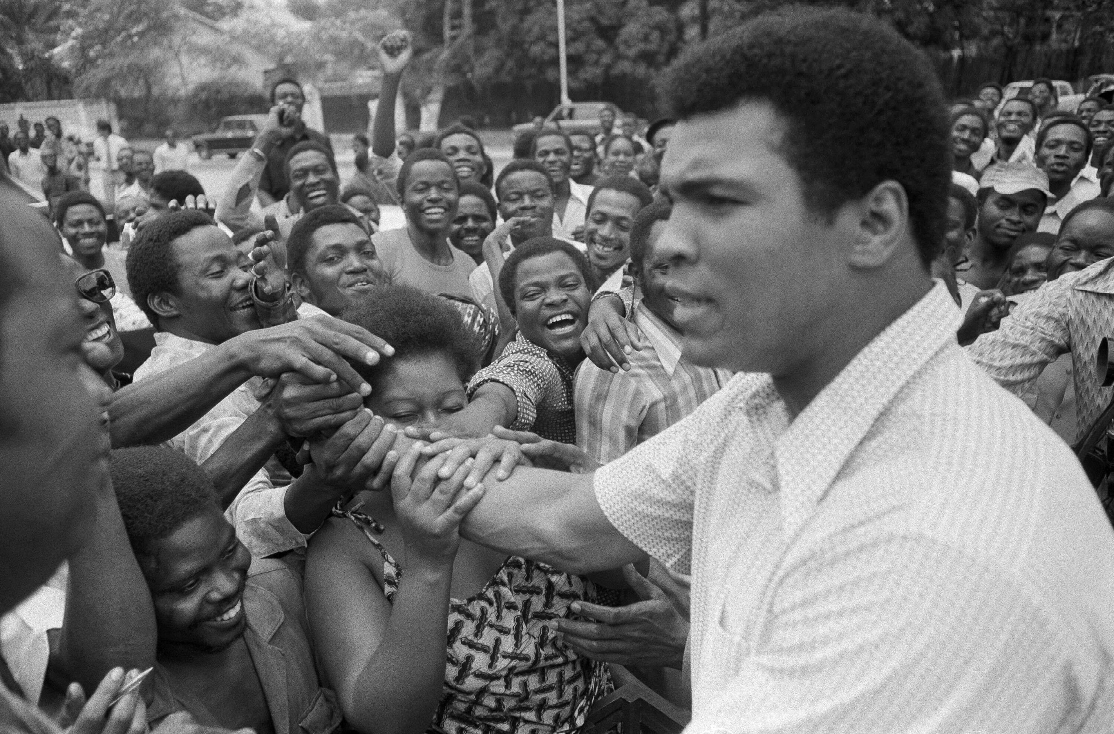
[[[813,513],[898,391],[941,349],[958,349],[959,322],[960,312],[947,287],[935,284],[867,344],[778,438],[774,457],[788,538]]]

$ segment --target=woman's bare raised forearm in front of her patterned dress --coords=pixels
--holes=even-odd
[[[344,717],[364,734],[426,731],[444,685],[452,562],[407,561],[383,640],[342,696]]]

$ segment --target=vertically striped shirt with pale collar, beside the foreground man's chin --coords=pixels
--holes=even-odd
[[[612,373],[589,360],[576,371],[576,444],[607,463],[673,425],[727,384],[731,373],[681,359],[681,334],[639,303],[634,323],[649,344]]]

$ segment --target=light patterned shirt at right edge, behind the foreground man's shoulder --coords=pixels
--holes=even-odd
[[[1061,275],[1019,301],[998,331],[979,336],[967,353],[1003,388],[1024,395],[1045,365],[1071,352],[1078,441],[1114,395],[1102,386],[1095,361],[1098,342],[1114,336],[1114,258]]]

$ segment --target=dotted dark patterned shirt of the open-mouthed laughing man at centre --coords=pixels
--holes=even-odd
[[[518,413],[508,425],[512,431],[534,431],[544,439],[576,443],[573,418],[573,370],[519,332],[502,354],[468,383],[468,399],[488,382],[507,385],[515,392]]]

